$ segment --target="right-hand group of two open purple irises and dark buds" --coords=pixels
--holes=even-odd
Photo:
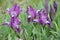
[[[51,28],[53,28],[52,20],[54,17],[54,13],[57,11],[57,4],[55,1],[53,1],[53,7],[50,5],[50,17],[48,16],[48,8],[46,8],[47,5],[41,10],[35,10],[32,8],[32,6],[27,7],[26,13],[27,13],[27,19],[28,22],[38,22],[41,25],[48,25]]]

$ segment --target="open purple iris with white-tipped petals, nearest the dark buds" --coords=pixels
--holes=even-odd
[[[45,8],[37,11],[37,21],[41,25],[48,25],[50,28],[53,28],[52,22],[47,15],[47,11]]]

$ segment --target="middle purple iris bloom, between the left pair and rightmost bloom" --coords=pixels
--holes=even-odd
[[[29,6],[26,10],[26,13],[27,13],[27,21],[30,22],[30,21],[33,21],[33,19],[36,18],[36,10],[32,8],[32,6]]]

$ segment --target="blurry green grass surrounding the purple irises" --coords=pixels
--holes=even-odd
[[[43,29],[39,24],[27,23],[26,7],[32,5],[36,10],[44,7],[44,0],[0,0],[0,40],[18,40],[17,34],[9,27],[2,26],[2,23],[9,21],[10,16],[6,12],[6,9],[11,7],[14,3],[18,3],[22,8],[22,12],[19,15],[21,20],[21,29],[23,30],[19,34],[22,40],[60,40],[60,0],[56,0],[58,10],[55,13],[53,19],[53,29],[45,26]],[[49,0],[49,5],[53,3],[53,0]],[[33,35],[31,36],[31,34]]]

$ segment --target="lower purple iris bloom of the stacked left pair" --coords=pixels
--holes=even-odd
[[[15,30],[16,32],[18,32],[18,33],[20,33],[20,23],[21,23],[21,21],[18,19],[18,18],[16,18],[16,17],[11,17],[11,19],[10,19],[10,27],[13,29],[13,30]]]

